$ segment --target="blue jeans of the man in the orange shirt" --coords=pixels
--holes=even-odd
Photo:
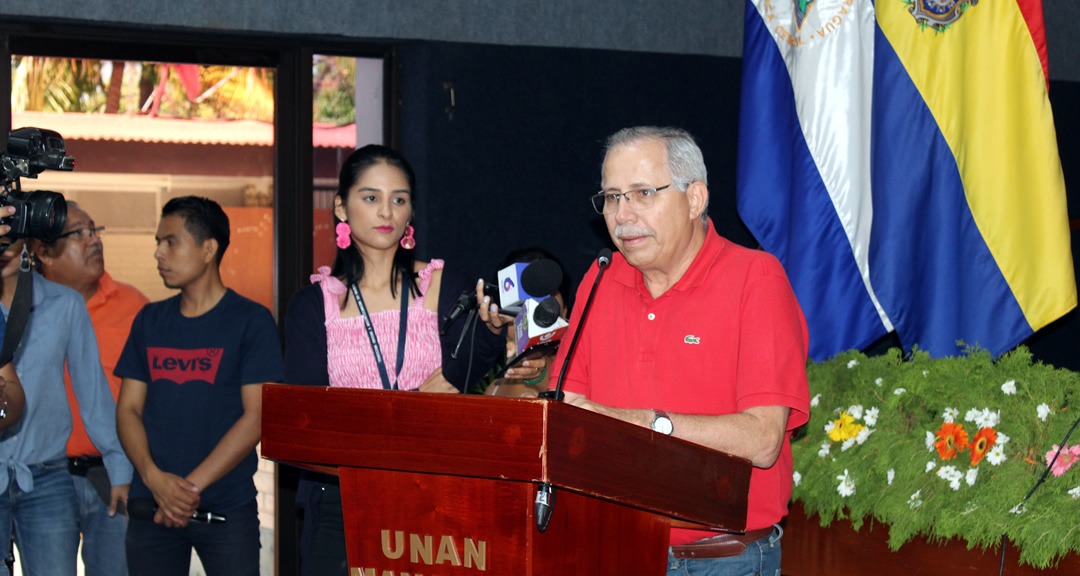
[[[79,501],[79,530],[82,532],[82,564],[86,576],[127,576],[124,537],[127,517],[109,518],[109,505],[102,499],[85,477],[71,474]]]

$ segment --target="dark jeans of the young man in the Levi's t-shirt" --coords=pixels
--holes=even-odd
[[[206,576],[259,576],[258,505],[252,498],[225,515],[221,523],[188,522],[183,528],[130,519],[129,572],[132,576],[188,576],[194,547]]]

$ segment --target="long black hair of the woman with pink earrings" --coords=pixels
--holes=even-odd
[[[405,178],[408,180],[409,200],[415,214],[416,175],[413,173],[413,166],[408,164],[405,157],[397,153],[393,148],[387,148],[377,144],[364,146],[349,155],[349,158],[346,159],[345,164],[341,166],[341,174],[338,176],[337,196],[341,199],[341,205],[349,205],[349,189],[356,185],[356,182],[364,175],[364,172],[367,172],[367,169],[376,164],[394,166],[405,174]],[[338,219],[335,213],[334,226],[337,227],[340,222],[342,220]],[[416,257],[414,252],[399,246],[397,252],[394,253],[393,269],[390,271],[390,294],[392,296],[396,297],[397,295],[399,273],[405,279],[405,285],[413,296],[420,295],[420,289],[416,285],[415,263]],[[364,257],[355,246],[339,247],[337,249],[337,256],[334,257],[334,270],[330,273],[345,282],[347,286],[351,286],[364,278]]]

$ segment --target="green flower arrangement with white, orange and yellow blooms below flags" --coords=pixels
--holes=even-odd
[[[978,349],[847,352],[808,374],[793,497],[822,525],[886,523],[893,550],[919,534],[983,549],[1008,535],[1038,567],[1080,551],[1080,431],[1062,445],[1080,416],[1069,407],[1080,375],[1032,363],[1023,347],[996,361]]]

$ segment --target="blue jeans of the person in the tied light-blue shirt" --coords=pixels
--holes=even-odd
[[[26,576],[75,576],[79,554],[79,508],[67,458],[30,465],[33,490],[23,492],[15,469],[8,473],[6,497],[0,497],[0,550],[8,554],[11,528]],[[0,575],[8,567],[0,564]]]

